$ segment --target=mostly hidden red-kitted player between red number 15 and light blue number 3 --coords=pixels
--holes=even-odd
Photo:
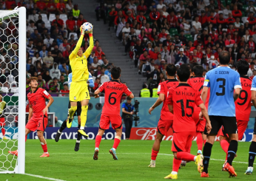
[[[190,86],[192,86],[194,89],[198,90],[199,93],[201,94],[203,90],[203,66],[197,65],[193,66],[192,68],[192,75],[193,78],[189,78],[187,83],[189,83]],[[209,95],[208,95],[209,97]],[[207,99],[209,100],[209,98]],[[206,108],[208,107],[208,101],[206,100]],[[197,144],[198,144],[198,154],[202,154],[202,148],[203,148],[203,131],[206,126],[206,120],[199,119],[199,114],[201,112],[201,109],[198,106],[195,106],[194,108],[194,113],[193,113],[193,119],[195,120],[195,125],[196,125],[196,133],[197,133]]]

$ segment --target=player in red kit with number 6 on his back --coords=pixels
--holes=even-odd
[[[121,69],[119,67],[112,67],[110,70],[112,81],[103,83],[97,90],[95,90],[95,98],[98,98],[100,92],[105,92],[105,102],[101,112],[100,126],[98,128],[98,134],[95,138],[95,151],[93,155],[93,160],[98,160],[98,147],[101,143],[101,138],[106,129],[110,128],[110,122],[112,128],[115,129],[116,135],[114,140],[114,145],[110,149],[110,154],[112,154],[114,160],[118,160],[116,156],[115,149],[121,141],[122,135],[122,120],[120,116],[120,100],[125,93],[129,98],[134,98],[134,95],[127,88],[126,85],[120,83],[118,78],[121,75]]]

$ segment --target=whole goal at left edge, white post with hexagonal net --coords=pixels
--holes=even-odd
[[[24,174],[26,112],[26,9],[24,7],[0,10],[0,92],[2,98],[0,174]],[[18,157],[8,153],[17,149]]]

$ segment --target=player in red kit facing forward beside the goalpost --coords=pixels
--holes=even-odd
[[[27,134],[35,132],[37,130],[38,139],[41,142],[41,148],[44,150],[44,154],[40,157],[50,157],[47,151],[47,143],[44,139],[44,129],[48,123],[47,110],[53,103],[52,96],[44,89],[38,88],[38,82],[36,77],[31,77],[27,81],[31,88],[31,92],[27,94],[27,99],[30,104],[30,110],[28,115],[28,122],[25,129],[25,140],[27,141]],[[45,98],[49,99],[47,106],[45,106]],[[18,150],[8,151],[10,154],[18,156]]]

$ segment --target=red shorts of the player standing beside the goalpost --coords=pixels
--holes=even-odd
[[[36,130],[43,131],[46,128],[48,123],[47,115],[33,115],[30,120],[28,120],[26,129],[29,129],[31,132],[35,132]]]

